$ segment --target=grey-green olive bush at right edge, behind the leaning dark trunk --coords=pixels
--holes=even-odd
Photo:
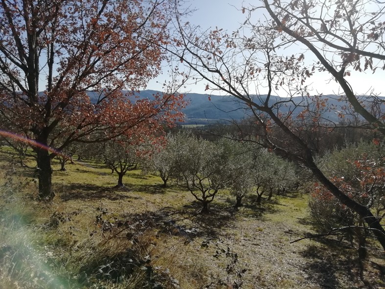
[[[385,213],[385,151],[382,145],[360,143],[326,154],[320,159],[322,170],[349,197],[382,217]],[[345,227],[345,237],[366,238],[363,219],[342,205],[328,190],[315,183],[309,200],[310,213],[317,228],[328,232]],[[356,227],[355,227],[356,226]],[[359,229],[359,230],[358,230]],[[360,242],[360,241],[359,241]]]

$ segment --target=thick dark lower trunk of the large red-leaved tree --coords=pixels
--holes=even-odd
[[[49,152],[45,148],[37,148],[37,165],[39,179],[39,198],[52,200],[55,193],[52,191],[52,168]]]

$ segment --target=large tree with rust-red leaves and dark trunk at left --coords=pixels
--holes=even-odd
[[[35,142],[40,198],[54,196],[51,159],[68,145],[159,136],[181,117],[180,95],[129,100],[159,74],[171,7],[171,0],[0,1],[1,127]]]

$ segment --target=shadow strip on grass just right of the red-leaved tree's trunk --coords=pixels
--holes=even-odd
[[[128,189],[116,189],[114,187],[101,187],[90,184],[71,183],[64,185],[60,192],[60,198],[68,200],[98,200],[108,198],[109,200],[124,200],[138,198],[130,195]]]

